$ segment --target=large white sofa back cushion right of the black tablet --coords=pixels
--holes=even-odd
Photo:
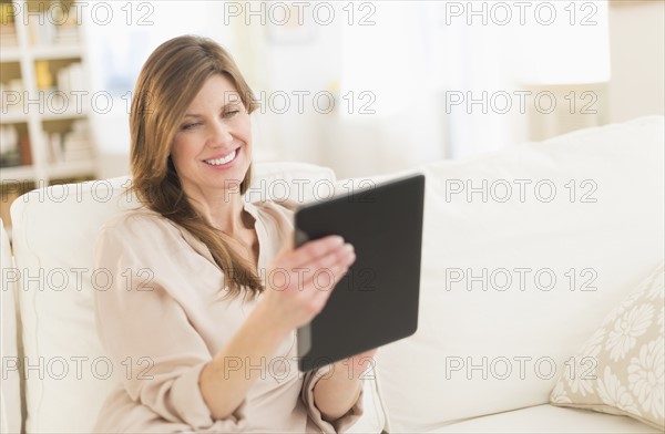
[[[640,118],[417,169],[419,328],[377,354],[391,432],[549,402],[663,259],[664,130]]]

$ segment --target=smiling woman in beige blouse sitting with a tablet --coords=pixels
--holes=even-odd
[[[207,39],[170,40],[141,71],[130,122],[143,207],[108,221],[95,247],[113,276],[98,327],[122,371],[99,432],[340,432],[362,414],[374,351],[297,370],[295,330],[355,255],[338,236],[294,249],[288,204],[244,202],[255,107]],[[311,280],[321,267],[326,288]]]

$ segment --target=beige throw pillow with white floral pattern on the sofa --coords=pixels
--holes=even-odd
[[[661,264],[565,363],[552,404],[627,415],[665,428],[663,272]]]

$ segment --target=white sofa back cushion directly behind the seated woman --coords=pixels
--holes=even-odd
[[[329,168],[303,163],[254,165],[252,195],[308,202],[332,188]],[[99,342],[93,311],[93,242],[99,227],[114,213],[134,207],[122,195],[127,177],[50,187],[31,192],[11,208],[25,372],[28,432],[92,430],[114,375]],[[320,192],[314,190],[319,188]],[[369,431],[383,426],[376,382],[366,383],[367,415],[358,422]]]

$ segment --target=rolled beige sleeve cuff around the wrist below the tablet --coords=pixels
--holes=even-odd
[[[314,403],[314,388],[320,379],[330,373],[332,365],[328,364],[317,370],[307,372],[303,382],[303,392],[300,397],[303,399],[303,402],[307,409],[307,415],[316,424],[316,426],[321,430],[321,432],[345,433],[360,418],[360,416],[362,416],[362,395],[365,391],[362,389],[360,390],[358,400],[344,416],[339,417],[332,423],[324,421],[321,417],[321,412]]]

